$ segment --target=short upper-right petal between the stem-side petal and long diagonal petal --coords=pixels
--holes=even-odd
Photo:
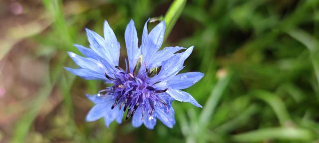
[[[181,50],[181,49],[185,49],[183,47],[166,47],[161,51],[158,51],[155,55],[154,58],[152,58],[152,61],[150,62],[150,67],[149,69],[152,68],[156,68],[156,67],[160,67],[161,63],[165,60],[168,60],[169,58],[171,58],[174,53],[176,53],[177,51]]]

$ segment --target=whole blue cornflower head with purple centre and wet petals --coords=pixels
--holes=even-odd
[[[153,129],[157,119],[160,119],[164,125],[172,128],[175,124],[171,107],[173,100],[202,107],[189,93],[180,89],[196,83],[203,73],[177,74],[184,68],[183,63],[193,47],[181,53],[176,52],[185,48],[166,47],[158,51],[164,38],[165,22],[160,22],[148,33],[148,21],[144,25],[140,48],[134,21],[131,20],[126,27],[125,43],[129,61],[125,61],[126,70],[119,67],[120,44],[107,21],[104,22],[104,38],[86,29],[91,49],[74,45],[87,58],[68,52],[81,68],[65,69],[85,79],[111,83],[111,86],[96,95],[87,94],[87,98],[96,105],[87,114],[86,121],[104,117],[105,125],[109,127],[114,120],[120,124],[124,112],[128,110],[126,119],[132,118],[134,127],[144,124]]]

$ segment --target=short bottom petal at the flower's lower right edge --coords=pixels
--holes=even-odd
[[[174,110],[170,108],[168,112],[166,108],[155,107],[155,112],[157,113],[157,118],[160,119],[163,124],[169,128],[173,128],[175,124]]]

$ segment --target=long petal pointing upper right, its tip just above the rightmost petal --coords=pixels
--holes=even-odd
[[[156,83],[176,75],[184,68],[184,61],[188,58],[192,51],[193,47],[190,47],[185,52],[175,54],[168,60],[162,62],[162,67],[159,74],[150,79],[151,83]]]

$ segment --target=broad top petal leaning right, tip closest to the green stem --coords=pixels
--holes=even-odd
[[[160,49],[165,33],[165,21],[160,22],[148,35],[147,46],[143,46],[143,63],[149,67],[154,54]]]

